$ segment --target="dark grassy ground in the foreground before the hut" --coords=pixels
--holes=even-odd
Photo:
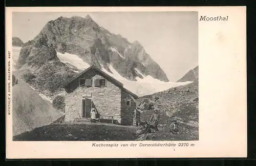
[[[14,141],[131,141],[134,128],[94,124],[52,124],[14,136]]]

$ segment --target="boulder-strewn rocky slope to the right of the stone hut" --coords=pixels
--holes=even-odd
[[[137,102],[137,104],[145,102],[144,111],[141,113],[141,121],[150,121],[153,110],[158,108],[160,115],[159,126],[162,131],[167,133],[172,119],[176,118],[178,119],[181,133],[189,136],[189,139],[183,139],[198,139],[198,80],[185,86],[140,97]]]

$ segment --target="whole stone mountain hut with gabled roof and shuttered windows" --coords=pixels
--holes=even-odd
[[[96,118],[120,125],[135,125],[137,95],[123,88],[123,84],[94,65],[78,74],[63,86],[65,122],[90,119],[91,108]]]

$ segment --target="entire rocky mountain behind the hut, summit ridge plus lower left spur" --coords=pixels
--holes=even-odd
[[[67,53],[77,55],[81,63],[94,64],[110,73],[111,66],[128,80],[150,75],[168,81],[164,71],[138,41],[130,43],[121,35],[110,33],[89,15],[49,21],[33,40],[24,44],[16,68],[29,69],[28,83],[51,95],[77,72],[87,68],[77,69],[60,61],[57,55]]]

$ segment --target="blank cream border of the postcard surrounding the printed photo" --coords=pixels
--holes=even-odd
[[[7,158],[247,157],[246,7],[6,8],[6,65],[8,51],[12,53],[12,12],[67,11],[197,11],[199,16],[228,15],[228,21],[199,21],[199,141],[189,141],[194,147],[125,148],[92,147],[93,142],[13,142],[12,116],[7,115]],[[159,143],[143,143],[152,142]]]

